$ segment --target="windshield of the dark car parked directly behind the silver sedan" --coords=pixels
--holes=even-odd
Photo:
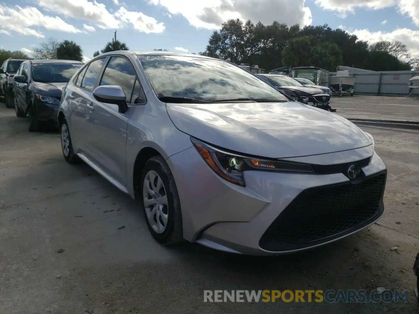
[[[32,65],[32,78],[35,82],[67,83],[82,66],[81,63],[39,63]]]

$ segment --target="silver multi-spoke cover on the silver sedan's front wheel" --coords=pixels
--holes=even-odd
[[[145,175],[142,195],[148,223],[156,233],[163,233],[168,221],[167,194],[163,181],[153,170]]]

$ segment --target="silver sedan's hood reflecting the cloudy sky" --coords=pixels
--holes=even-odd
[[[166,108],[180,131],[253,156],[301,157],[372,144],[370,137],[347,119],[297,102],[167,103]]]

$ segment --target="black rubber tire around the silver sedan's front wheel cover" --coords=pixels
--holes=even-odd
[[[144,204],[143,198],[143,189],[144,189],[144,180],[146,175],[150,172],[155,172],[163,182],[163,188],[166,192],[167,198],[167,224],[162,233],[156,232],[151,226],[148,218],[146,207]],[[142,203],[145,220],[147,222],[148,229],[150,230],[153,238],[159,242],[161,245],[171,246],[178,245],[184,242],[183,237],[183,226],[182,226],[182,212],[181,212],[181,203],[179,200],[178,190],[176,188],[175,179],[173,178],[172,172],[167,165],[166,161],[161,156],[151,157],[145,164],[142,175],[140,178],[139,193],[140,202]],[[161,190],[161,189],[160,189]],[[161,195],[161,194],[160,194]],[[158,206],[158,205],[156,205]],[[153,215],[154,221],[156,221],[157,216]]]

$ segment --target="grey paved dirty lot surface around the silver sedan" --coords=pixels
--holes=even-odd
[[[339,102],[343,107],[351,99],[361,102],[361,97],[342,97]],[[406,106],[413,105],[400,108]],[[363,109],[345,107],[345,112],[351,110]],[[27,129],[26,119],[0,104],[1,314],[83,314],[92,309],[93,314],[413,313],[416,309],[411,268],[419,251],[419,132],[365,128],[375,137],[376,151],[389,172],[386,211],[379,224],[316,250],[248,257],[191,244],[159,246],[129,196],[87,165],[68,165],[57,133],[34,134]],[[125,228],[119,230],[121,226]],[[391,251],[396,245],[398,251]],[[64,252],[56,252],[59,249]],[[206,289],[369,292],[377,287],[407,289],[409,302],[203,302]]]

